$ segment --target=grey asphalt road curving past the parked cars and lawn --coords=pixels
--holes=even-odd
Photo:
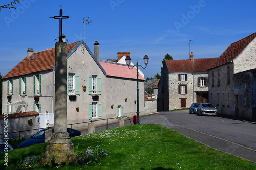
[[[131,120],[132,122],[132,120]],[[256,124],[218,116],[197,116],[188,110],[159,112],[140,117],[141,124],[160,124],[216,150],[256,163]],[[125,126],[131,125],[129,120]],[[118,124],[108,125],[108,129]],[[106,126],[95,128],[95,132]],[[82,132],[82,135],[87,134]]]

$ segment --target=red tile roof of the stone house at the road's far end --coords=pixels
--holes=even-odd
[[[205,72],[217,58],[194,59],[194,72]],[[193,72],[193,62],[186,60],[165,60],[169,72]]]

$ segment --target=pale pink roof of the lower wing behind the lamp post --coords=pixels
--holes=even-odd
[[[102,66],[102,68],[105,70],[107,76],[137,79],[136,68],[129,69],[128,66],[124,64],[110,63],[110,62],[104,62],[104,61],[99,61],[99,63]],[[139,79],[145,80],[141,76],[141,74],[139,74]]]

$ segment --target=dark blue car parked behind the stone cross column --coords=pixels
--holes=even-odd
[[[39,132],[37,132],[36,134],[34,134],[31,138],[21,142],[18,145],[18,148],[28,147],[32,144],[44,143],[45,142],[45,130],[47,130],[47,129],[42,129]],[[52,128],[52,132],[54,132],[53,128]],[[69,137],[81,135],[80,131],[71,129],[71,128],[67,128],[67,132],[69,133]]]

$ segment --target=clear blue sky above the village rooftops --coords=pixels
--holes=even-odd
[[[8,3],[8,0],[1,1]],[[1,4],[3,5],[3,4]],[[226,48],[256,31],[256,1],[238,0],[20,0],[17,9],[0,12],[0,73],[6,75],[22,61],[28,48],[34,51],[55,46],[59,35],[60,5],[63,33],[68,43],[83,39],[94,53],[99,41],[99,58],[117,58],[117,52],[131,52],[132,62],[150,58],[142,71],[146,77],[160,74],[161,60],[168,53],[175,60],[189,58],[189,39],[194,58],[219,57]]]

